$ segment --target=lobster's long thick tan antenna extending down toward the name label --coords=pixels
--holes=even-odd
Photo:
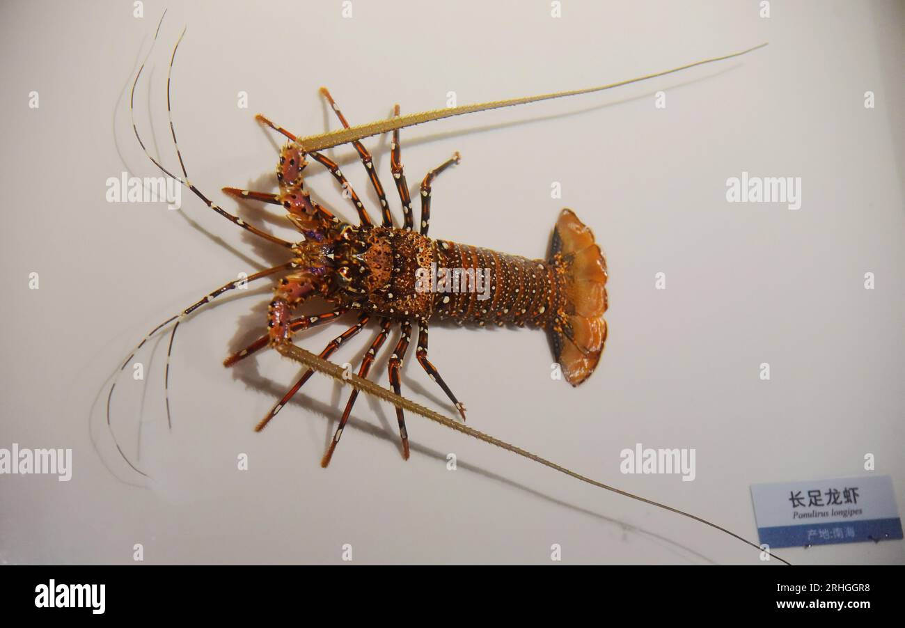
[[[724,532],[728,534],[730,537],[738,538],[742,543],[746,543],[751,547],[756,548],[758,551],[763,551],[763,548],[758,546],[755,543],[752,543],[747,538],[740,537],[735,532],[732,532],[726,528],[718,526],[715,523],[708,521],[707,519],[700,518],[696,515],[692,515],[689,512],[685,512],[684,510],[680,510],[677,508],[672,508],[672,506],[667,506],[666,504],[662,504],[659,501],[648,500],[646,498],[641,497],[640,495],[635,495],[634,493],[630,493],[627,490],[617,489],[614,486],[610,486],[609,484],[604,484],[603,482],[599,482],[596,480],[592,480],[576,471],[572,471],[571,469],[567,469],[561,465],[558,465],[556,462],[548,461],[546,458],[541,458],[535,453],[531,453],[527,450],[521,449],[520,447],[516,447],[513,444],[510,444],[506,441],[501,441],[499,438],[495,438],[490,434],[486,434],[483,432],[479,432],[478,430],[473,429],[465,425],[464,423],[459,423],[457,421],[452,420],[443,414],[434,412],[430,408],[425,408],[424,405],[416,404],[414,401],[402,396],[396,395],[389,388],[384,388],[381,385],[377,385],[374,382],[365,379],[364,377],[359,377],[355,374],[350,374],[343,369],[342,366],[338,366],[333,364],[329,360],[325,360],[322,357],[318,357],[315,354],[311,353],[299,347],[298,345],[294,345],[291,343],[283,343],[276,346],[277,351],[281,353],[281,355],[285,357],[289,357],[296,362],[300,362],[301,364],[308,366],[309,368],[313,368],[316,371],[319,371],[325,375],[331,376],[339,382],[344,384],[351,385],[353,388],[357,388],[358,390],[367,393],[367,395],[376,396],[384,401],[394,404],[396,407],[403,408],[410,413],[419,414],[423,416],[425,419],[430,419],[436,423],[440,423],[441,425],[445,425],[446,427],[455,430],[456,432],[461,432],[468,436],[472,436],[472,438],[476,438],[479,441],[487,442],[491,445],[495,445],[500,447],[500,449],[505,449],[507,452],[515,453],[523,458],[528,458],[530,461],[538,462],[539,464],[543,464],[545,467],[549,467],[554,471],[559,471],[560,473],[565,473],[566,475],[572,476],[576,480],[580,480],[591,484],[599,489],[610,490],[614,493],[618,493],[619,495],[623,495],[624,497],[631,498],[633,500],[643,501],[645,504],[650,504],[652,506],[656,506],[657,508],[661,508],[664,510],[669,510],[670,512],[674,512],[677,515],[681,515],[682,517],[687,517],[689,519],[694,519],[700,523],[703,523],[710,528],[716,528],[720,532]],[[767,550],[768,551],[768,550]],[[787,560],[777,557],[776,554],[772,552],[768,552],[770,556],[775,557],[777,560],[786,563],[786,565],[791,565]]]

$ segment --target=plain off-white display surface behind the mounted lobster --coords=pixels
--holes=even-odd
[[[351,5],[352,16],[344,17]],[[572,90],[764,41],[766,49],[620,90],[433,122],[402,132],[409,183],[433,185],[431,235],[543,257],[559,210],[595,232],[610,271],[609,338],[579,388],[550,377],[538,330],[432,328],[430,358],[469,424],[597,480],[757,541],[749,485],[872,472],[905,504],[905,133],[900,3],[173,3],[139,83],[146,144],[243,219],[289,236],[280,212],[222,186],[268,190],[280,138],[458,104]],[[298,366],[222,360],[265,328],[266,282],[201,311],[136,358],[106,430],[104,380],[157,322],[282,252],[183,194],[183,208],[108,203],[123,171],[157,176],[132,135],[129,87],[165,5],[6,3],[0,447],[71,448],[71,481],[0,475],[0,562],[741,563],[758,552],[689,519],[581,484],[359,398],[328,470],[320,456],[348,392],[315,376],[263,433],[252,427]],[[656,92],[665,92],[658,109]],[[40,107],[29,105],[37,91]],[[238,106],[246,92],[248,108]],[[872,91],[874,107],[865,108]],[[152,131],[155,134],[152,139]],[[371,138],[397,219],[388,138]],[[379,211],[350,147],[327,153]],[[174,170],[176,171],[176,170]],[[801,208],[728,203],[726,181],[800,177]],[[316,164],[307,185],[348,202]],[[561,185],[562,197],[551,198]],[[416,196],[416,194],[414,194]],[[417,200],[415,214],[417,215]],[[39,273],[39,290],[29,275]],[[657,290],[657,273],[666,289]],[[864,287],[873,273],[874,288]],[[257,289],[255,289],[257,286]],[[354,319],[342,319],[343,322]],[[351,324],[349,322],[348,324]],[[348,325],[299,337],[319,351]],[[357,362],[368,329],[334,357]],[[396,332],[387,344],[395,344]],[[154,350],[153,361],[151,350]],[[372,378],[386,385],[385,347]],[[761,378],[768,363],[770,379]],[[414,360],[403,393],[452,415]],[[144,403],[143,409],[141,404]],[[139,439],[140,436],[140,439]],[[623,474],[635,443],[693,448],[693,481]],[[447,469],[454,453],[457,470]],[[248,470],[237,469],[246,454]],[[875,471],[865,471],[872,454]],[[900,540],[777,552],[798,564],[903,563]],[[770,562],[776,565],[776,560]]]

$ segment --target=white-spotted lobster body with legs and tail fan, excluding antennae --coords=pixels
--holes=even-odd
[[[329,91],[321,89],[329,100],[345,128],[348,122],[338,109]],[[398,115],[398,108],[396,108]],[[357,324],[348,329],[350,335],[376,316],[380,334],[367,349],[358,376],[367,377],[376,352],[381,348],[392,325],[398,321],[401,338],[389,359],[390,384],[398,394],[399,368],[405,357],[411,335],[411,320],[418,324],[418,346],[415,357],[433,381],[443,388],[452,404],[465,417],[465,406],[452,393],[449,385],[427,358],[428,321],[433,317],[452,319],[459,324],[472,323],[484,326],[515,325],[518,327],[548,328],[553,333],[557,361],[572,385],[586,380],[594,371],[606,338],[606,324],[602,315],[606,309],[606,263],[594,236],[576,215],[564,210],[557,222],[553,240],[553,252],[547,261],[529,260],[509,255],[427,237],[430,227],[431,184],[447,167],[458,163],[456,154],[441,166],[434,168],[421,183],[421,221],[419,232],[413,230],[411,200],[400,160],[399,130],[393,137],[391,167],[403,205],[404,224],[395,228],[386,195],[376,175],[373,159],[360,141],[353,145],[365,165],[371,184],[380,199],[383,222],[376,226],[360,198],[349,186],[335,162],[317,151],[306,155],[296,144],[291,133],[259,116],[265,124],[281,132],[289,142],[281,149],[277,167],[280,193],[267,195],[259,192],[225,188],[237,196],[254,197],[279,203],[289,212],[287,217],[304,235],[304,240],[292,246],[293,271],[281,279],[274,289],[274,297],[268,312],[269,342],[272,346],[291,342],[291,310],[303,300],[319,296],[333,309],[325,314],[335,317],[348,309],[361,309]],[[360,224],[344,223],[323,206],[311,200],[304,188],[301,173],[310,157],[337,178],[348,190],[355,205]],[[440,291],[418,290],[420,270],[431,268],[482,271],[490,269],[490,292],[487,302],[478,299],[476,290],[460,291],[452,296]],[[318,320],[320,317],[318,317]],[[316,321],[312,321],[316,322]],[[300,326],[299,328],[304,328]],[[322,357],[344,341],[340,336],[322,352]],[[247,355],[247,354],[245,354]],[[232,363],[227,361],[228,363]],[[303,378],[310,376],[306,372]],[[262,427],[279,411],[289,396],[297,392],[293,386],[259,424]],[[349,397],[346,409],[339,421],[336,433],[321,464],[327,466],[339,442],[343,428],[355,404],[357,391]],[[402,437],[404,456],[407,457],[408,438],[402,408],[396,408],[399,433]]]

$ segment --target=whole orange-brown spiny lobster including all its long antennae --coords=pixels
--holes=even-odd
[[[162,23],[163,17],[161,17]],[[155,42],[159,31],[160,24],[157,25],[157,33],[154,36]],[[129,365],[129,361],[135,356],[138,349],[148,342],[148,339],[154,337],[160,329],[175,321],[170,332],[169,347],[167,349],[165,387],[168,387],[169,356],[176,336],[176,328],[186,316],[228,290],[243,286],[249,281],[256,281],[264,277],[283,273],[284,276],[274,288],[273,299],[268,307],[267,333],[256,339],[248,347],[224,360],[224,366],[232,366],[255,351],[270,346],[275,348],[282,356],[290,357],[300,362],[300,364],[308,366],[295,385],[291,386],[290,390],[271,407],[270,412],[256,425],[256,431],[262,430],[317,370],[344,381],[344,383],[353,387],[337,430],[321,460],[321,466],[323,467],[329,465],[359,391],[365,391],[369,395],[385,399],[395,405],[399,432],[403,443],[403,457],[405,459],[408,459],[409,456],[408,435],[403,414],[404,409],[407,408],[415,414],[420,414],[483,442],[488,442],[529,460],[536,461],[577,480],[618,493],[633,500],[643,501],[655,507],[670,510],[683,517],[694,519],[711,528],[719,529],[721,532],[737,538],[751,547],[763,550],[762,547],[748,541],[748,539],[707,519],[657,501],[648,500],[631,492],[617,489],[603,482],[592,480],[576,473],[576,471],[571,471],[555,462],[541,458],[537,454],[520,449],[509,442],[501,441],[467,427],[463,423],[453,421],[400,395],[399,369],[402,366],[402,361],[411,341],[412,320],[414,319],[419,328],[415,357],[428,376],[443,388],[443,392],[450,398],[452,404],[455,405],[462,415],[462,421],[465,419],[464,405],[452,394],[452,390],[443,381],[443,377],[440,376],[437,369],[427,359],[428,321],[434,317],[452,319],[459,324],[475,324],[477,326],[493,323],[499,326],[514,325],[517,327],[527,326],[548,329],[552,336],[555,357],[562,368],[563,375],[571,385],[581,384],[594,372],[604,348],[606,323],[603,319],[603,314],[607,308],[605,290],[607,274],[604,255],[595,243],[593,233],[568,209],[562,210],[558,217],[554,228],[551,251],[547,260],[529,260],[516,255],[444,240],[433,240],[427,237],[430,225],[433,180],[447,167],[459,162],[458,153],[424,176],[420,186],[422,199],[420,229],[418,233],[415,233],[412,203],[401,162],[399,129],[464,113],[608,90],[629,83],[645,81],[686,70],[705,63],[738,57],[762,48],[767,43],[762,43],[745,51],[692,62],[672,70],[660,71],[627,81],[619,81],[584,90],[562,91],[511,100],[497,100],[408,114],[406,116],[399,115],[399,106],[396,105],[393,118],[378,120],[357,127],[349,126],[348,121],[339,110],[335,100],[330,96],[329,91],[321,88],[321,94],[328,100],[343,128],[307,138],[296,138],[285,128],[281,128],[271,122],[271,120],[259,115],[257,116],[259,121],[278,131],[289,140],[281,148],[280,161],[276,168],[279,192],[271,194],[233,187],[223,188],[225,193],[239,198],[282,205],[288,212],[286,215],[288,220],[304,237],[304,240],[299,243],[291,243],[271,233],[263,232],[252,224],[247,224],[238,216],[226,212],[222,207],[214,204],[188,180],[186,165],[176,142],[176,129],[173,125],[172,110],[169,106],[170,76],[176,59],[176,51],[184,35],[185,31],[180,35],[174,47],[167,72],[167,114],[183,176],[173,175],[155,157],[148,153],[148,149],[145,147],[135,125],[135,89],[141,72],[144,70],[145,63],[147,63],[147,58],[139,68],[132,84],[129,102],[129,109],[132,112],[132,127],[138,143],[157,168],[167,174],[167,176],[171,176],[185,185],[210,209],[244,230],[288,249],[291,253],[291,260],[256,272],[243,279],[230,281],[217,290],[208,293],[204,298],[196,301],[179,314],[165,320],[152,329],[138,346],[132,350],[129,357],[120,366],[120,371]],[[149,55],[150,51],[148,52]],[[363,138],[388,131],[393,132],[391,170],[403,208],[404,221],[402,228],[395,227],[386,201],[384,188],[376,174],[373,158],[360,141]],[[338,164],[329,159],[329,157],[319,153],[319,150],[323,148],[336,147],[348,143],[355,147],[379,199],[383,219],[382,224],[379,226],[374,224],[369,214],[367,214],[367,209],[349,185],[346,177],[343,176]],[[321,166],[326,167],[348,194],[348,198],[357,211],[359,224],[353,225],[339,220],[329,209],[319,205],[311,198],[310,193],[305,189],[302,179],[302,171],[308,166],[309,157]],[[452,297],[439,291],[419,290],[418,271],[427,267],[456,268],[465,273],[467,271],[475,272],[482,269],[490,269],[490,292],[492,293],[490,302],[483,303],[473,290],[454,293]],[[315,297],[327,301],[332,306],[329,311],[313,316],[292,318],[293,309],[297,308],[302,302]],[[319,356],[311,354],[309,351],[292,343],[292,336],[295,333],[337,319],[353,309],[359,311],[357,323],[337,338],[331,340],[328,346],[320,352]],[[358,374],[347,376],[343,373],[341,367],[329,362],[327,358],[338,347],[348,341],[349,338],[357,335],[375,317],[379,322],[380,332],[367,349]],[[401,329],[401,337],[388,361],[388,375],[393,388],[390,391],[369,381],[367,375],[374,364],[377,351],[386,342],[394,321],[398,323]],[[108,427],[110,427],[110,399],[115,386],[116,379],[114,377],[107,399]],[[167,395],[167,421],[169,422],[169,420],[170,413]],[[129,458],[119,447],[119,443],[116,446],[120,455],[129,463],[132,469],[142,475],[146,475],[129,461]],[[776,555],[772,556],[776,557]],[[788,564],[786,560],[780,557],[776,558]]]

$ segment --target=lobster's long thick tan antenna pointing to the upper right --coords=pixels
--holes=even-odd
[[[640,76],[635,79],[629,79],[628,81],[619,81],[610,83],[608,85],[601,85],[599,87],[588,87],[584,90],[557,91],[556,93],[552,94],[524,96],[522,98],[513,98],[510,100],[491,100],[490,102],[479,102],[473,105],[462,105],[460,107],[448,107],[445,109],[422,111],[421,113],[410,113],[408,115],[400,116],[397,118],[377,120],[376,122],[359,124],[355,127],[340,128],[338,130],[329,131],[327,133],[310,135],[307,138],[296,138],[295,143],[301,148],[302,151],[304,151],[305,153],[310,153],[316,150],[322,150],[324,148],[331,148],[339,146],[340,144],[354,142],[358,139],[380,135],[381,133],[393,131],[397,128],[414,127],[414,125],[422,124],[423,122],[430,122],[432,120],[439,120],[443,118],[451,118],[452,116],[461,116],[464,113],[487,111],[488,109],[500,109],[501,107],[514,107],[515,105],[524,105],[529,102],[538,102],[538,100],[565,98],[567,96],[577,96],[579,94],[590,94],[595,91],[612,90],[614,87],[622,87],[623,85],[629,85],[631,83],[636,83],[639,81],[655,79],[658,76],[666,76],[667,74],[672,74],[673,72],[688,70],[698,65],[704,65],[705,63],[725,61],[727,59],[732,59],[733,57],[740,57],[743,54],[748,54],[748,52],[754,52],[756,50],[759,50],[760,48],[763,48],[767,45],[767,43],[769,42],[761,43],[760,45],[754,46],[753,48],[748,48],[748,50],[743,50],[741,52],[732,52],[731,54],[724,54],[721,57],[713,57],[712,59],[705,59],[703,61],[688,63],[678,68],[672,68],[672,70],[659,71],[653,74]]]

